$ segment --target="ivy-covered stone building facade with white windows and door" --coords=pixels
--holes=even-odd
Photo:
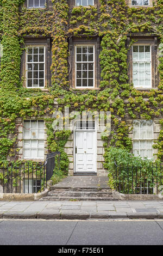
[[[161,159],[161,0],[0,3],[1,160],[40,162],[59,150],[69,175],[107,175],[110,146]],[[73,131],[53,127],[57,111],[67,124],[65,107]],[[111,132],[75,111],[110,112]]]

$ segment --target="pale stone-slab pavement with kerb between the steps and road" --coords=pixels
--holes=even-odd
[[[163,200],[152,201],[0,201],[0,219],[163,219]]]

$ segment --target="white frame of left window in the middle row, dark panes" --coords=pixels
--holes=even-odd
[[[43,62],[28,62],[28,48],[34,48],[34,47],[43,47],[44,51],[43,51],[43,54],[44,54],[44,61]],[[28,89],[32,89],[32,88],[45,88],[45,61],[46,61],[46,46],[45,45],[28,45],[27,46],[27,51],[26,51],[26,88]],[[33,55],[33,54],[32,54]],[[39,54],[38,54],[39,55]],[[28,64],[43,64],[44,66],[44,69],[43,69],[43,73],[44,73],[44,76],[43,78],[41,78],[43,80],[43,86],[32,86],[32,87],[28,87]],[[39,70],[37,70],[39,71]],[[41,70],[42,71],[42,70]],[[33,77],[33,72],[32,72],[32,77]],[[32,78],[32,81],[34,80],[34,77]],[[38,82],[39,82],[39,78],[38,78]]]

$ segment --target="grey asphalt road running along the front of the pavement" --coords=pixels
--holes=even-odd
[[[163,221],[0,220],[0,245],[163,245]]]

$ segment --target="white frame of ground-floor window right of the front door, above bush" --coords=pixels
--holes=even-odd
[[[145,150],[146,150],[146,157],[148,158],[148,159],[153,159],[153,147],[152,147],[152,157],[148,157],[147,156],[147,141],[152,141],[152,145],[153,145],[153,131],[154,131],[154,124],[153,124],[153,121],[152,121],[152,138],[147,138],[147,129],[146,129],[146,138],[140,138],[140,121],[142,121],[142,120],[135,120],[135,121],[139,121],[139,138],[134,138],[134,129],[133,129],[133,145],[134,145],[134,141],[138,141],[139,142],[139,148],[137,149],[137,148],[133,148],[133,151],[134,151],[134,149],[135,150],[137,150],[137,152],[139,153],[139,155],[140,155],[140,150],[141,150],[141,148],[140,148],[140,142],[141,141],[145,141],[146,142],[146,148],[145,148]],[[145,121],[145,120],[144,120]]]

